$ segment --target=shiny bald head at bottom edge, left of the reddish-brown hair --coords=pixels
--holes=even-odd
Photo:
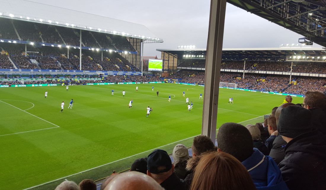
[[[114,177],[105,190],[164,190],[153,178],[141,172],[125,172]]]

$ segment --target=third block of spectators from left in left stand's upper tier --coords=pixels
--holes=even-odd
[[[38,24],[38,23],[36,25],[40,29],[42,34],[42,39],[46,43],[56,43],[56,44],[63,43],[58,32],[55,30],[54,26],[48,24]]]

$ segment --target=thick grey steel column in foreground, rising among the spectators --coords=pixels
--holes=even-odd
[[[226,0],[211,0],[201,135],[215,142]]]

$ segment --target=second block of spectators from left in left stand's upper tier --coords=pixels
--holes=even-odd
[[[14,21],[14,25],[22,40],[42,42],[42,39],[40,38],[40,31],[36,29],[34,23]]]

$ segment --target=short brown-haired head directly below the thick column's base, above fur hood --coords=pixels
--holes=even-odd
[[[215,150],[215,144],[212,139],[205,135],[195,136],[194,141],[192,142],[192,156],[199,156],[200,154],[206,151]]]

